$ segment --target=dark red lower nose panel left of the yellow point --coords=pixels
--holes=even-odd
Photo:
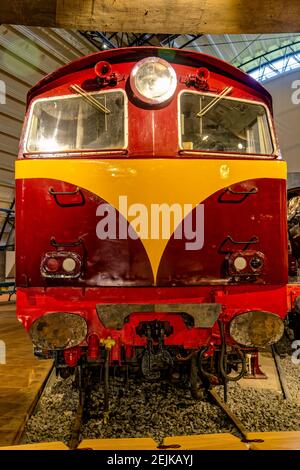
[[[16,198],[22,201],[18,212],[18,224],[26,227],[26,221],[39,227],[34,249],[31,237],[16,237],[18,253],[30,256],[17,257],[17,285],[40,286],[99,286],[99,285],[152,285],[153,275],[145,248],[140,240],[99,240],[96,216],[99,204],[106,202],[95,194],[82,189],[84,205],[63,207],[57,205],[49,188],[55,191],[74,191],[74,186],[62,181],[35,179],[17,180]],[[32,207],[32,201],[43,201]],[[61,204],[76,204],[82,201],[81,195],[58,196]],[[120,215],[120,217],[122,217]],[[80,221],[80,223],[79,223]],[[30,227],[28,227],[29,230]],[[45,279],[40,273],[40,263],[46,252],[55,251],[51,238],[57,242],[73,242],[82,238],[84,244],[66,251],[78,253],[84,259],[84,274],[80,278],[64,280]],[[116,252],[118,255],[116,256]]]

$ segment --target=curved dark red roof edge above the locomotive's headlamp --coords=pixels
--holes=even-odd
[[[243,83],[250,88],[253,88],[258,92],[262,98],[267,102],[267,104],[272,108],[272,97],[269,92],[256,80],[254,80],[250,75],[247,75],[245,72],[242,72],[240,69],[234,67],[233,65],[221,60],[216,57],[202,54],[200,52],[194,52],[190,50],[182,49],[171,49],[171,48],[161,48],[161,47],[124,47],[120,49],[108,49],[105,51],[95,52],[89,54],[80,59],[76,59],[70,62],[63,67],[55,70],[54,72],[46,75],[42,80],[40,80],[28,93],[27,102],[33,98],[33,96],[42,93],[44,87],[48,88],[48,85],[54,82],[55,80],[68,75],[73,72],[79,72],[96,65],[97,62],[101,60],[107,60],[111,63],[117,63],[122,61],[130,60],[140,60],[144,57],[149,56],[160,56],[170,62],[184,63],[191,66],[210,66],[211,69],[214,69],[216,72],[222,73],[240,83]]]

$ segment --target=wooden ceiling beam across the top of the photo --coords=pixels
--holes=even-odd
[[[11,0],[0,23],[162,34],[298,32],[299,0]]]

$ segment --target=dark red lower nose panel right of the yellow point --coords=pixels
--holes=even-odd
[[[253,187],[258,189],[257,193],[245,199],[228,193],[223,195],[224,190],[221,190],[203,201],[203,248],[186,251],[187,240],[184,237],[175,240],[172,236],[158,270],[160,285],[197,285],[216,279],[227,280],[226,253],[245,247],[230,241],[223,244],[228,235],[236,241],[249,240],[253,236],[259,239],[258,243],[248,247],[248,250],[261,251],[265,255],[265,267],[256,283],[276,285],[287,282],[287,229],[282,217],[286,210],[285,181],[255,179],[231,186],[234,191],[249,191]],[[282,256],[274,256],[275,253],[282,253]]]

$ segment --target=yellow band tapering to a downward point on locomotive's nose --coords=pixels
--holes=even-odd
[[[286,179],[286,163],[279,160],[225,159],[24,159],[16,161],[16,179],[50,178],[80,186],[120,210],[119,196],[128,206],[151,204],[196,207],[211,194],[240,181],[255,178]],[[168,243],[142,238],[154,279]]]

